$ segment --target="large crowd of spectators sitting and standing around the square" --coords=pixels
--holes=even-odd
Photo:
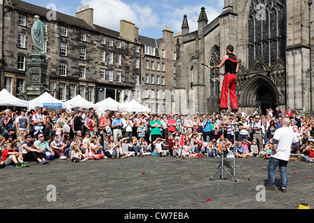
[[[154,155],[157,157],[269,158],[272,137],[283,117],[291,120],[299,146],[292,154],[314,161],[314,118],[290,108],[195,115],[128,113],[90,108],[74,112],[10,109],[0,112],[0,167]]]

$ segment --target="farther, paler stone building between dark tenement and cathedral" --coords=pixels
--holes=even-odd
[[[175,86],[175,72],[177,49],[172,29],[165,27],[163,38],[154,39],[140,36],[142,43],[142,76],[136,100],[142,105],[150,107],[151,112],[157,114],[172,113],[174,111],[173,92]]]

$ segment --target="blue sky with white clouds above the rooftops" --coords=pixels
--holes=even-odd
[[[223,12],[223,0],[24,0],[47,8],[54,4],[57,11],[75,16],[77,8],[94,8],[94,24],[119,31],[120,20],[128,20],[139,28],[140,35],[163,37],[165,26],[181,32],[184,15],[188,16],[190,31],[197,29],[200,8],[205,7],[209,22]],[[218,2],[218,3],[217,3]]]

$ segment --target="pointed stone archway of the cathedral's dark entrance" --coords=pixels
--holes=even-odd
[[[265,114],[266,109],[275,110],[279,94],[274,82],[264,75],[254,75],[246,82],[239,97],[240,107],[259,114]]]

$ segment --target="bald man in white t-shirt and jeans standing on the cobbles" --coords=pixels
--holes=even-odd
[[[273,137],[273,149],[268,162],[268,185],[266,190],[275,190],[275,169],[279,165],[281,172],[281,192],[287,187],[287,162],[290,159],[291,148],[298,144],[297,136],[289,128],[290,118],[283,118],[282,128],[276,130]]]

